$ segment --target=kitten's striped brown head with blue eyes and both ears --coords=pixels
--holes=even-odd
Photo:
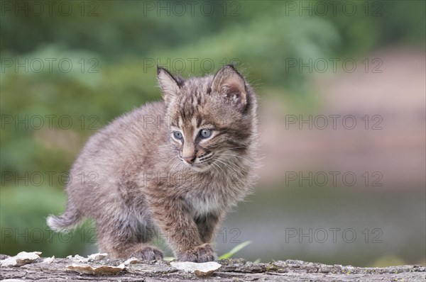
[[[256,95],[232,65],[186,80],[158,68],[157,77],[170,142],[187,167],[207,171],[244,159],[256,137]]]

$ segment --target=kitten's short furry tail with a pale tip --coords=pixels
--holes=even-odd
[[[83,218],[82,213],[74,203],[68,201],[67,210],[60,216],[49,215],[48,226],[50,229],[55,230],[57,232],[64,232],[70,229],[73,229]]]

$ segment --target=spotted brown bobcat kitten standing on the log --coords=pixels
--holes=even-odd
[[[232,65],[186,80],[158,68],[157,78],[163,101],[89,139],[70,170],[65,213],[47,222],[63,231],[92,217],[111,258],[162,259],[149,244],[160,232],[180,261],[213,261],[214,232],[253,182],[256,94]]]

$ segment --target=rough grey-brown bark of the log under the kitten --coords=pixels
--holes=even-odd
[[[0,259],[6,259],[0,255]],[[54,259],[43,263],[37,259],[31,264],[1,267],[0,279],[10,281],[425,281],[425,266],[391,266],[386,268],[361,268],[354,266],[326,265],[305,261],[273,261],[253,264],[244,259],[219,261],[222,267],[208,278],[194,273],[178,271],[168,261],[139,261],[126,265],[116,275],[89,275],[67,271],[66,266],[75,263],[71,259]],[[124,261],[102,260],[88,262],[92,266],[118,266]],[[7,281],[7,280],[6,280]]]

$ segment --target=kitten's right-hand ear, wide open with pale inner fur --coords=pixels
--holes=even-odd
[[[229,98],[239,111],[243,111],[247,105],[246,81],[232,64],[228,64],[214,76],[212,91]]]

